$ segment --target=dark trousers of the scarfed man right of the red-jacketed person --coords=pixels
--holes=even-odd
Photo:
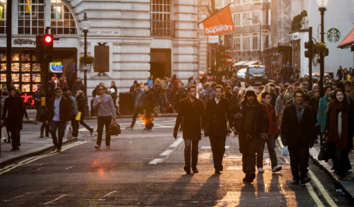
[[[310,153],[308,146],[301,144],[288,145],[290,155],[291,174],[293,179],[304,179],[307,177],[307,166]]]

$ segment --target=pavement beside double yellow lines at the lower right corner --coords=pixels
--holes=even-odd
[[[310,149],[311,159],[317,166],[319,166],[319,168],[322,168],[322,170],[324,170],[324,172],[326,172],[331,179],[333,179],[333,181],[335,181],[335,184],[337,184],[338,188],[345,193],[346,197],[354,200],[354,181],[352,179],[338,179],[338,175],[335,174],[334,170],[331,170],[333,166],[331,161],[318,161],[317,156],[319,153],[319,147],[319,144],[315,144],[315,146]],[[354,153],[349,153],[349,160],[351,161],[352,169],[349,170],[349,172],[346,172],[346,176],[354,178]]]

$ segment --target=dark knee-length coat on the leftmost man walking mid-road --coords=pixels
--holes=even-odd
[[[203,101],[195,99],[195,105],[192,106],[188,97],[186,99],[182,99],[179,103],[175,131],[178,130],[182,118],[184,119],[183,139],[190,139],[193,141],[200,140],[201,126],[204,128],[208,127],[206,110],[204,108]]]

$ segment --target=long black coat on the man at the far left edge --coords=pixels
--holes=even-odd
[[[3,104],[3,114],[1,119],[5,120],[7,114],[8,130],[22,130],[22,119],[24,114],[24,106],[22,98],[19,96],[8,97]]]

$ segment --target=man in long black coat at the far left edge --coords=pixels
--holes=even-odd
[[[7,129],[11,132],[11,151],[20,150],[20,130],[22,130],[22,118],[24,113],[23,101],[21,97],[16,95],[15,90],[16,88],[13,86],[9,88],[8,92],[10,96],[5,99],[1,116],[1,124],[3,124],[6,119]]]

